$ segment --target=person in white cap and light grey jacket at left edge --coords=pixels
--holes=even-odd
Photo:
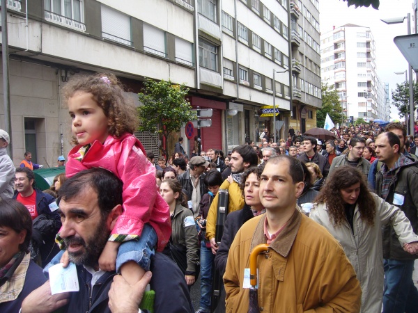
[[[0,129],[0,201],[12,198],[15,186],[16,168],[6,149],[9,143],[10,136]]]

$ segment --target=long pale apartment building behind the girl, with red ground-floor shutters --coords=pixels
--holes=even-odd
[[[201,129],[203,150],[229,150],[256,140],[264,127],[272,131],[272,114],[261,107],[272,106],[273,89],[277,134],[287,134],[292,122],[288,0],[7,4],[15,164],[26,150],[45,166],[68,153],[70,118],[61,89],[72,76],[93,72],[116,74],[137,106],[145,77],[185,83],[192,106],[213,112],[212,126]],[[4,127],[3,106],[0,115]],[[155,135],[136,135],[157,152],[150,137]],[[186,139],[186,146],[193,144]]]

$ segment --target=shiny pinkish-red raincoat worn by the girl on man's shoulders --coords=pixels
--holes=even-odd
[[[95,141],[84,155],[79,157],[77,145],[68,153],[65,175],[72,177],[89,168],[105,168],[123,182],[123,214],[111,234],[135,234],[140,236],[144,223],[150,223],[157,232],[157,250],[162,251],[171,235],[169,205],[155,188],[155,166],[146,159],[144,147],[132,134],[120,138],[108,136],[104,144]]]

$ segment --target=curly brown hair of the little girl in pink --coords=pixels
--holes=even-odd
[[[123,94],[123,86],[114,74],[95,74],[73,77],[63,88],[65,102],[75,93],[91,93],[109,119],[109,134],[116,138],[127,132],[133,134],[139,126],[137,109]],[[77,139],[72,138],[77,144]]]

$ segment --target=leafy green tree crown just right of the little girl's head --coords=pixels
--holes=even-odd
[[[138,94],[138,113],[141,119],[139,131],[159,133],[169,138],[171,132],[179,132],[189,120],[194,119],[192,106],[185,97],[189,91],[185,85],[173,85],[171,81],[145,79],[142,93]]]

